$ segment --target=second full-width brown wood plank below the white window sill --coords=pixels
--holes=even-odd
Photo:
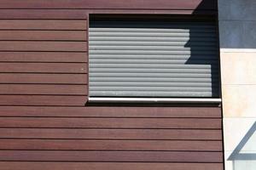
[[[62,101],[61,101],[62,102]],[[221,119],[3,117],[0,127],[221,128]]]

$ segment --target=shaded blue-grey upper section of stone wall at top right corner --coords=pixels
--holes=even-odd
[[[220,48],[256,48],[256,1],[218,0]]]

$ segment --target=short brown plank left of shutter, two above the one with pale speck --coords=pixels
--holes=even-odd
[[[86,52],[87,42],[0,41],[0,51]]]

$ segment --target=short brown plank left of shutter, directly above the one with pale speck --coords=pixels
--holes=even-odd
[[[87,62],[87,53],[0,52],[0,62]]]

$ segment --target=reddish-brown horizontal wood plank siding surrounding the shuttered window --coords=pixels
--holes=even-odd
[[[0,2],[0,170],[223,170],[215,106],[86,105],[88,14],[217,14],[215,0]]]

